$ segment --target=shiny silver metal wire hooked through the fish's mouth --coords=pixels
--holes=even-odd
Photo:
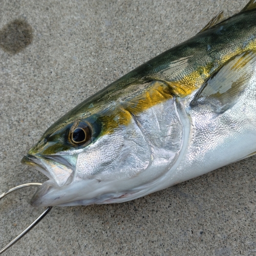
[[[23,188],[23,187],[29,187],[29,186],[40,186],[41,183],[26,183],[26,184],[22,184],[16,187],[13,187],[7,191],[5,191],[5,193],[3,193],[2,195],[0,195],[0,200],[5,197],[6,195],[10,194],[12,191],[19,189],[19,188]],[[46,210],[44,212],[42,212],[42,214],[33,222],[31,223],[25,230],[23,230],[16,238],[14,238],[9,244],[7,244],[5,247],[3,247],[0,250],[0,254],[2,254],[4,251],[6,251],[9,247],[11,247],[13,244],[15,244],[20,238],[22,238],[31,228],[33,228],[40,220],[42,220],[42,218],[44,218],[48,212],[51,210],[52,206],[49,206],[46,208]]]

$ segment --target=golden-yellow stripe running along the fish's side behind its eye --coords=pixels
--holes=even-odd
[[[246,48],[237,48],[236,51],[222,57],[219,67],[233,56],[255,48],[256,41],[250,42]],[[244,63],[241,63],[241,65],[244,65]],[[154,85],[143,95],[137,96],[129,102],[124,102],[121,104],[123,107],[117,108],[112,115],[103,118],[102,135],[112,133],[119,125],[128,125],[132,119],[131,113],[137,115],[173,96],[183,98],[191,94],[202,86],[213,67],[214,63],[208,63],[205,67],[199,67],[178,81],[155,81]]]

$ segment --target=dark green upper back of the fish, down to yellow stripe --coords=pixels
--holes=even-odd
[[[143,100],[143,95],[152,91],[151,87],[159,92],[159,98],[156,96],[148,107],[168,97],[185,97],[199,89],[211,74],[233,56],[255,48],[256,10],[247,8],[215,26],[207,27],[111,83],[60,118],[45,135],[75,119],[109,110],[113,112],[118,105],[125,109],[129,105],[127,102],[134,104]],[[147,107],[145,102],[141,111]]]

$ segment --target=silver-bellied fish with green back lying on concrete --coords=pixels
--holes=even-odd
[[[256,1],[62,116],[22,159],[36,207],[122,203],[256,154]]]

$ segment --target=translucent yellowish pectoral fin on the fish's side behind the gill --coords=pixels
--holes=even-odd
[[[254,71],[256,71],[256,50],[234,56],[203,84],[191,101],[191,108],[210,104],[215,112],[225,112],[237,102]]]

